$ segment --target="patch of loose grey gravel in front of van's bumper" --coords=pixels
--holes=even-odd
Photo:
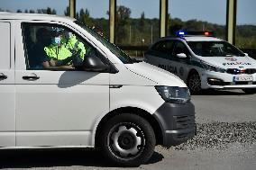
[[[256,121],[197,124],[197,136],[175,148],[178,150],[224,149],[233,143],[256,143]]]

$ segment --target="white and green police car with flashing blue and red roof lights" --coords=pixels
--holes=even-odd
[[[256,60],[212,33],[178,31],[177,37],[161,38],[146,52],[145,61],[179,76],[194,94],[209,88],[256,93]]]

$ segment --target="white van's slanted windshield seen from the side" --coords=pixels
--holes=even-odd
[[[126,53],[123,52],[122,49],[116,47],[113,43],[109,42],[109,40],[105,39],[104,36],[99,35],[96,31],[90,29],[86,24],[82,22],[75,21],[80,27],[89,32],[92,36],[99,40],[103,45],[109,49],[117,58],[119,58],[123,64],[133,64],[134,60],[130,58]]]

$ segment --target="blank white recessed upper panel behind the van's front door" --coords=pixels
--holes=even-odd
[[[11,67],[11,24],[10,22],[0,22],[0,69],[10,69]]]

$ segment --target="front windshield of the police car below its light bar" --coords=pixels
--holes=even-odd
[[[241,50],[225,41],[187,41],[190,49],[202,57],[243,57]]]

